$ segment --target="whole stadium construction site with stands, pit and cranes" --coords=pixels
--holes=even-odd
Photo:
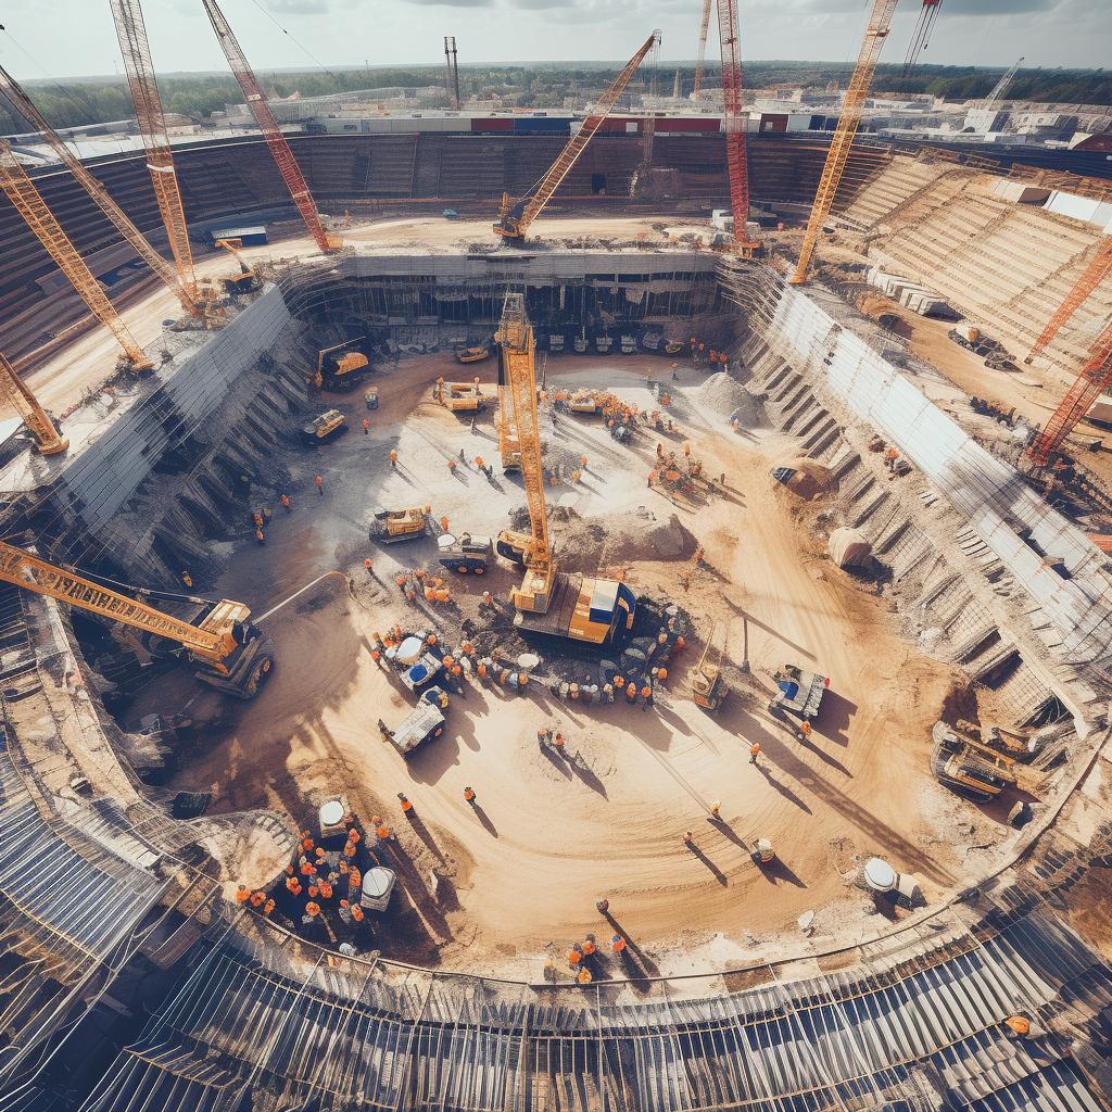
[[[1108,1110],[1112,178],[855,141],[895,0],[435,149],[202,4],[254,138],[0,69],[0,1112]]]

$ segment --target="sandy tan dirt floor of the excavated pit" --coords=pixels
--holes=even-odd
[[[542,368],[549,387],[605,385],[641,406],[655,404],[648,377],[673,374],[669,360],[641,355],[549,356],[538,375]],[[686,695],[686,668],[696,658],[689,648],[647,713],[619,704],[573,708],[539,684],[525,696],[470,685],[465,698],[453,698],[446,734],[408,762],[383,741],[377,721],[400,723],[411,696],[371,661],[371,634],[395,622],[438,627],[435,604],[406,603],[394,583],[399,568],[436,565],[431,538],[371,545],[371,514],[379,505],[430,505],[451,528],[495,534],[525,502],[519,478],[497,466],[493,481],[470,466],[449,473],[447,461],[460,449],[468,460],[497,459],[489,410],[473,433],[468,420],[429,399],[438,376],[476,370],[494,394],[493,360],[461,375],[441,355],[379,373],[381,407],[369,415],[361,393],[327,397],[355,428],[294,457],[292,513],[276,518],[265,548],[254,539],[237,545],[217,587],[256,615],[336,569],[354,588],[328,576],[262,620],[279,663],[250,705],[230,706],[181,673],[145,693],[132,717],[170,705],[208,724],[170,786],[214,792],[218,811],[281,807],[298,823],[312,821],[330,794],[347,792],[365,820],[383,815],[399,838],[390,856],[404,891],[390,912],[394,926],[380,930],[384,953],[514,975],[537,976],[546,949],[566,950],[597,930],[594,904],[603,895],[623,933],[667,955],[662,969],[681,972],[714,965],[723,946],[736,956],[755,937],[794,929],[807,910],[822,917],[827,909],[843,936],[875,930],[882,921],[862,906],[860,892],[846,891],[842,875],[861,855],[913,872],[929,892],[959,883],[932,802],[941,788],[926,768],[930,728],[955,676],[898,637],[886,599],[821,557],[817,507],[804,507],[770,475],[794,454],[793,441],[762,428],[732,433],[725,415],[701,406],[707,375],[689,366],[671,385],[673,411],[711,474],[726,474],[722,494],[701,509],[674,507],[645,481],[655,436],[642,433],[632,447],[620,446],[599,419],[560,416],[555,429],[550,418],[542,421],[545,466],[588,461],[580,483],[549,487],[547,497],[582,517],[596,538],[577,545],[573,526],[555,529],[566,570],[623,566],[638,593],[679,600],[703,635],[716,619],[727,658],[749,661],[749,681],[717,716],[706,715]],[[317,474],[325,480],[319,497]],[[674,516],[705,548],[708,565],[686,593],[691,545],[662,558],[642,539]],[[508,567],[483,579],[453,576],[458,609],[440,627],[468,617],[480,629],[508,628],[504,602],[486,616],[479,603],[484,587],[504,600],[514,580]],[[831,677],[807,745],[764,707],[768,672],[784,662]],[[578,758],[540,751],[542,727],[560,729]],[[466,786],[477,793],[474,810],[464,802]],[[415,804],[411,822],[398,792]],[[721,801],[722,823],[708,821],[713,801]],[[688,828],[695,853],[683,843]],[[778,854],[767,868],[749,858],[762,836]],[[848,919],[838,906],[852,911]]]

